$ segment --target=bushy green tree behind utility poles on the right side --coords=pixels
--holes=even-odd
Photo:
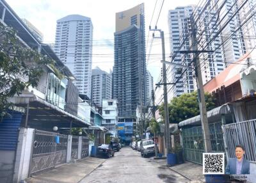
[[[216,107],[216,99],[210,94],[205,93],[205,102],[207,111]],[[188,118],[192,118],[200,114],[198,95],[196,92],[184,93],[179,97],[173,97],[168,104],[170,123],[179,123]],[[163,104],[159,107],[159,111],[164,116]]]

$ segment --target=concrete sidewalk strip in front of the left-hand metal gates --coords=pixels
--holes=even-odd
[[[28,183],[76,183],[98,168],[104,161],[106,159],[86,157],[85,159],[77,160],[76,163],[63,164],[57,168],[45,170],[25,181]]]

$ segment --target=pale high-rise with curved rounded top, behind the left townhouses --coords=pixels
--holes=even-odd
[[[57,20],[54,51],[76,77],[79,93],[91,96],[92,20],[81,15],[68,15]]]

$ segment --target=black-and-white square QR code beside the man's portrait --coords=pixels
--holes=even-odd
[[[204,174],[224,174],[224,153],[203,153]]]

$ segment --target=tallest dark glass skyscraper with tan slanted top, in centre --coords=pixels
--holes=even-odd
[[[144,4],[116,13],[113,98],[120,122],[135,122],[136,107],[147,102],[144,19]]]

